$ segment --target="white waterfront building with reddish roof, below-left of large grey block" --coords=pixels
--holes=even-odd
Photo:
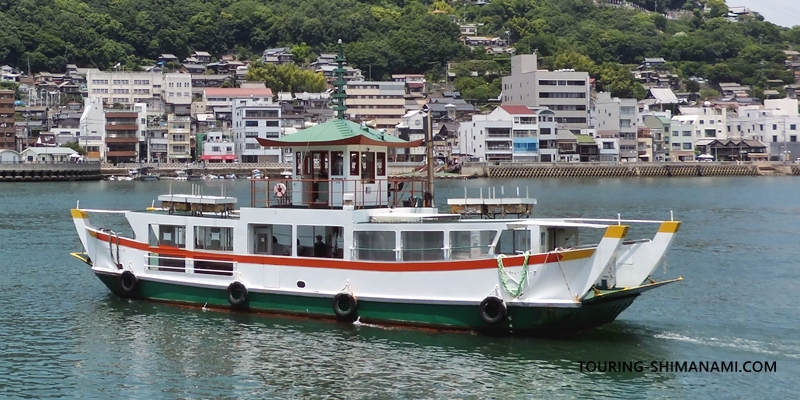
[[[557,126],[552,110],[502,105],[462,122],[459,146],[461,154],[481,161],[555,162]]]

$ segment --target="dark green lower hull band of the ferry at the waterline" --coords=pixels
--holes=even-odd
[[[120,289],[118,275],[97,274],[116,295],[126,297]],[[231,308],[225,289],[178,285],[139,279],[134,297],[171,303]],[[508,318],[497,324],[481,319],[478,305],[388,303],[358,301],[358,315],[364,323],[410,325],[444,329],[506,331],[528,334],[553,334],[578,331],[612,322],[631,305],[636,296],[594,302],[578,308],[513,307]],[[333,300],[311,297],[249,292],[247,306],[251,311],[293,314],[315,318],[336,318]]]

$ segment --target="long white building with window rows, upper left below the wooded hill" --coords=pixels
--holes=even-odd
[[[192,104],[192,76],[180,73],[152,73],[130,71],[100,71],[86,73],[89,96],[103,99],[103,103],[147,103],[152,110],[160,101],[170,105],[172,112],[188,114]]]

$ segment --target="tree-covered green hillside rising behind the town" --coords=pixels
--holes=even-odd
[[[708,1],[709,12],[703,11]],[[603,3],[604,0],[597,0]],[[653,8],[653,0],[631,3]],[[63,71],[68,63],[144,65],[194,50],[254,57],[269,47],[297,58],[347,44],[350,63],[375,79],[486,59],[459,39],[460,23],[506,38],[517,53],[538,49],[545,66],[599,68],[664,57],[681,75],[713,81],[791,77],[781,50],[800,47],[800,27],[750,18],[728,22],[723,0],[656,0],[681,20],[592,0],[0,0],[0,64]],[[302,45],[305,43],[305,45]],[[759,75],[760,74],[760,75]],[[757,83],[757,82],[750,82]]]

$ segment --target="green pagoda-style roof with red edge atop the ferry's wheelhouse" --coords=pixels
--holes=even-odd
[[[277,139],[258,138],[264,147],[372,145],[417,147],[422,140],[406,141],[346,119],[334,119]]]

